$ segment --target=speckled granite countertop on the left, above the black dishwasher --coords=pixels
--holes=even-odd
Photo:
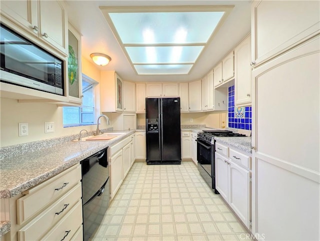
[[[108,141],[69,141],[2,159],[0,198],[20,194],[95,152],[129,136],[135,130],[121,132],[125,134]]]

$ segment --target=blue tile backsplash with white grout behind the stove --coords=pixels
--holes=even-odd
[[[234,107],[234,85],[228,88],[228,126],[251,130],[251,106]]]

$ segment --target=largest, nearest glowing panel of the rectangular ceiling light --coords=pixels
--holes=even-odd
[[[223,13],[120,12],[109,16],[123,44],[205,43]]]

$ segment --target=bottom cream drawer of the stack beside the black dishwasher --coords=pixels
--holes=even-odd
[[[41,240],[70,240],[81,224],[82,202],[79,200]]]

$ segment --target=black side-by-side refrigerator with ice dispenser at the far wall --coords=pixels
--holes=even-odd
[[[181,163],[180,97],[145,98],[147,164]]]

